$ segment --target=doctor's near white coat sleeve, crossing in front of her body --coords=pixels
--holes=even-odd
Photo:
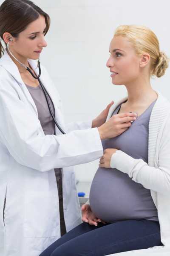
[[[90,162],[103,153],[97,128],[44,135],[34,109],[4,80],[0,81],[0,142],[21,165],[39,171]]]

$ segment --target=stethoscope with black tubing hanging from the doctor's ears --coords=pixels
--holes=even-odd
[[[44,85],[42,85],[42,82],[40,81],[40,76],[41,76],[40,59],[38,59],[38,64],[37,64],[37,68],[39,69],[39,75],[38,75],[38,76],[35,76],[35,75],[33,74],[33,72],[31,71],[30,68],[28,68],[26,65],[24,65],[23,63],[21,63],[21,62],[11,53],[11,51],[9,50],[9,43],[10,43],[10,41],[13,41],[13,40],[10,38],[9,41],[8,41],[8,44],[7,44],[7,48],[8,48],[9,53],[11,54],[11,56],[12,56],[17,62],[20,63],[20,65],[21,65],[22,67],[24,67],[24,68],[26,68],[26,69],[28,70],[28,72],[32,75],[32,77],[34,77],[35,79],[38,80],[38,82],[40,83],[40,86],[41,86],[41,88],[42,88],[42,91],[44,92],[45,99],[46,99],[47,105],[48,105],[48,109],[49,109],[49,111],[50,111],[51,117],[52,117],[53,120],[54,120],[54,123],[57,125],[57,128],[60,130],[60,132],[62,132],[62,134],[65,134],[65,132],[64,132],[64,131],[62,130],[62,128],[59,126],[59,124],[57,123],[57,121],[56,121],[56,119],[55,119],[55,117],[54,117],[54,115],[53,115],[53,113],[52,113],[51,106],[50,106],[50,103],[49,103],[49,100],[48,100],[48,97],[47,97],[48,93],[47,93],[47,91],[46,91]]]

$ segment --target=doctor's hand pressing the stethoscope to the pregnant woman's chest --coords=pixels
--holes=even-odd
[[[125,132],[131,126],[131,122],[136,120],[136,116],[136,113],[130,112],[113,115],[98,128],[101,140],[114,138]]]

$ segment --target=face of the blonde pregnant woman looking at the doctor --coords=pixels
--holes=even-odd
[[[140,57],[136,55],[127,38],[122,36],[113,37],[109,52],[110,57],[106,65],[111,71],[114,85],[126,85],[139,78]]]

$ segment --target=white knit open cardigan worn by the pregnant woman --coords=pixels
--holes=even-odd
[[[158,91],[149,122],[148,164],[134,159],[121,150],[112,155],[111,167],[129,175],[144,188],[150,189],[158,209],[161,242],[164,246],[110,254],[113,256],[170,256],[170,102]],[[127,97],[114,104],[109,119],[116,107]]]

